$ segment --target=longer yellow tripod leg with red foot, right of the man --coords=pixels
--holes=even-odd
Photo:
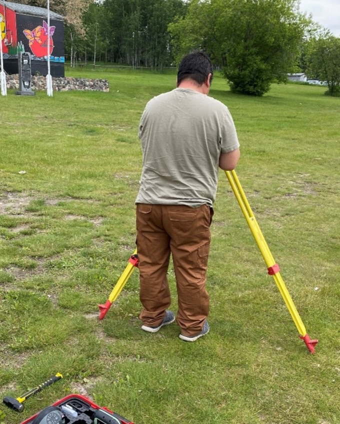
[[[296,325],[296,328],[300,334],[300,338],[305,342],[308,350],[313,353],[314,352],[314,346],[317,343],[317,340],[310,340],[308,334],[306,333],[305,327],[303,325],[303,322],[296,310],[296,307],[290,297],[290,294],[281,278],[281,275],[279,273],[279,266],[277,263],[275,263],[275,260],[270,252],[270,249],[263,237],[263,234],[259,228],[259,225],[256,221],[256,218],[254,214],[252,213],[252,210],[250,208],[250,205],[245,197],[244,191],[241,187],[241,184],[237,178],[236,172],[234,170],[232,171],[225,171],[225,175],[230,183],[231,189],[237,199],[237,202],[242,210],[242,213],[245,217],[245,220],[250,228],[250,231],[256,241],[256,244],[259,248],[259,251],[261,252],[263,259],[267,265],[268,274],[272,275],[274,278],[274,281],[279,289],[279,292],[281,293],[281,296],[283,297],[283,300],[288,308],[288,311]]]

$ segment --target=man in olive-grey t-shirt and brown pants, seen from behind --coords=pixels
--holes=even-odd
[[[136,198],[142,329],[156,332],[175,320],[167,269],[176,277],[179,338],[195,341],[209,331],[205,289],[212,204],[218,166],[235,168],[239,143],[227,107],[208,97],[213,67],[203,52],[185,56],[177,87],[145,106],[138,135],[143,153]]]

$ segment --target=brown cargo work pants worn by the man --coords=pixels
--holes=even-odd
[[[209,312],[205,289],[212,208],[139,203],[136,206],[140,319],[157,326],[171,303],[170,254],[176,277],[176,321],[183,335],[198,334]]]

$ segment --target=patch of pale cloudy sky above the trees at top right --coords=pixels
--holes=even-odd
[[[339,0],[300,0],[300,11],[312,14],[312,20],[340,37]]]

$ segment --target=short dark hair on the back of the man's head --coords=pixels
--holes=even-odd
[[[183,79],[190,78],[202,85],[208,74],[211,73],[209,83],[211,84],[213,66],[209,56],[203,51],[194,51],[182,58],[178,66],[177,85]]]

